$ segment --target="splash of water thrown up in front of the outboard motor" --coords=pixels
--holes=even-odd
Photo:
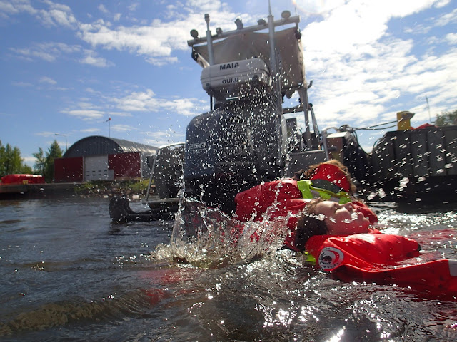
[[[170,259],[204,268],[248,261],[281,249],[289,217],[262,222],[239,222],[196,199],[181,199],[171,241],[152,252],[154,259]]]

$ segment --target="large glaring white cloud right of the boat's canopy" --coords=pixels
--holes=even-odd
[[[396,6],[391,1],[348,1],[330,11],[325,21],[303,30],[308,78],[314,78],[310,98],[318,103],[320,125],[382,123],[394,120],[396,111],[411,107],[418,112],[416,119],[427,120],[424,106],[416,105],[425,103],[426,93],[429,99],[456,103],[455,86],[450,86],[457,78],[455,49],[438,54],[431,45],[418,53],[420,38],[405,40],[388,31],[394,17],[417,13],[435,2],[401,1]],[[446,21],[454,16],[447,16]],[[423,31],[440,22],[443,17],[432,20]],[[455,44],[455,38],[454,33],[446,36],[450,44]]]

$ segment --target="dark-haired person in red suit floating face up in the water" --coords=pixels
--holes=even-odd
[[[433,296],[455,296],[457,260],[422,258],[416,240],[373,231],[369,219],[350,205],[321,199],[308,205],[295,241],[308,253],[308,261],[343,281],[398,284]]]

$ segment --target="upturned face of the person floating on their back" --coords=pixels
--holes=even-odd
[[[361,212],[354,212],[353,204],[323,201],[316,204],[316,214],[323,214],[330,235],[348,235],[368,232],[370,221]]]

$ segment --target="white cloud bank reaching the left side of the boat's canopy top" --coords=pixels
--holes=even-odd
[[[224,7],[224,6],[223,6]],[[80,24],[77,35],[94,48],[129,51],[145,56],[148,63],[156,66],[176,63],[176,50],[189,49],[186,41],[191,38],[190,28],[198,29],[202,34],[206,31],[203,13],[211,14],[211,27],[224,30],[233,29],[236,14],[221,10],[220,1],[187,1],[179,8],[169,6],[169,21],[154,19],[149,25],[114,26],[102,19],[91,24]],[[184,12],[183,12],[184,10]],[[198,11],[198,13],[196,12]],[[250,21],[250,16],[243,14],[243,20]]]

